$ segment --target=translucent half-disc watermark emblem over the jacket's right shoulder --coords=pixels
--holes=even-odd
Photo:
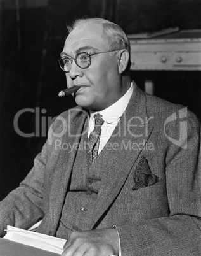
[[[179,119],[183,119],[187,117],[187,107],[182,108],[181,110],[179,110]],[[165,131],[165,127],[167,126],[167,124],[169,124],[170,122],[173,122],[176,120],[176,113],[173,113],[170,117],[168,117],[165,120],[165,124],[164,124],[164,133],[167,139],[169,139],[169,141],[171,141],[172,143],[174,143],[174,145],[177,145],[181,148],[186,149],[187,148],[187,120],[181,120],[179,122],[179,139],[174,139],[171,138],[169,135],[167,135],[166,131]]]

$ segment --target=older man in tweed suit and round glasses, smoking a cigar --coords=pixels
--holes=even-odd
[[[62,113],[0,227],[67,239],[62,255],[200,255],[200,123],[142,92],[129,41],[100,18],[69,27],[60,67],[77,107]]]

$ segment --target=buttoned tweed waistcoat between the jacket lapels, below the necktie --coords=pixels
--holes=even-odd
[[[58,238],[68,239],[72,231],[91,229],[93,210],[101,185],[101,166],[103,166],[105,154],[103,149],[93,164],[88,167],[87,139],[86,132],[81,136],[75,157],[60,224],[56,231]]]

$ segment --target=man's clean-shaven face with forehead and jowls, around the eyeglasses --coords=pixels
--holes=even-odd
[[[75,57],[77,52],[104,52],[110,50],[102,37],[101,24],[89,23],[75,28],[67,37],[62,56]],[[118,52],[91,56],[91,65],[82,69],[72,61],[66,73],[67,87],[80,85],[75,102],[88,110],[100,111],[112,105],[124,94],[118,69]]]

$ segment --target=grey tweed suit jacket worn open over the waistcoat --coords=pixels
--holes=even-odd
[[[34,167],[0,203],[0,228],[56,234],[84,122],[76,107],[62,113]],[[116,225],[122,255],[201,255],[200,123],[183,106],[133,95],[101,153],[101,187],[91,229]],[[3,234],[3,233],[1,233]]]

